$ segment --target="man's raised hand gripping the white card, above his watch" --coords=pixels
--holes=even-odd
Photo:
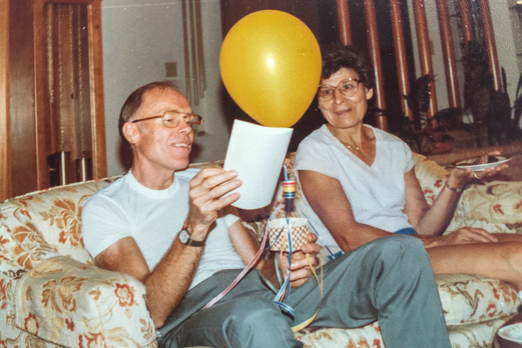
[[[236,171],[219,168],[202,169],[190,182],[189,209],[185,226],[191,237],[206,238],[209,227],[218,218],[218,211],[239,199],[239,193],[223,197],[243,183]]]

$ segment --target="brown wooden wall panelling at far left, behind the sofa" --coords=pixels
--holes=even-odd
[[[73,114],[73,111],[80,115],[74,124],[68,120],[72,124],[70,128],[75,130],[78,128],[75,125],[80,124],[83,125],[81,129],[87,126],[86,130],[79,132],[80,138],[70,140],[69,148],[64,150],[75,152],[76,158],[85,154],[86,162],[89,161],[87,166],[91,165],[92,159],[93,173],[84,175],[86,178],[106,176],[101,0],[16,0],[16,6],[10,8],[8,3],[9,0],[0,0],[0,13],[8,11],[7,17],[0,17],[0,33],[3,35],[0,39],[0,65],[6,67],[0,73],[0,94],[5,97],[4,103],[0,104],[0,198],[51,185],[48,158],[53,154],[51,149],[56,148],[56,138],[60,142],[57,133],[63,130],[60,128],[57,131],[56,122],[53,123],[56,110],[50,103],[50,90],[56,87],[56,81],[52,76],[48,80],[49,67],[56,63],[53,58],[58,52],[53,51],[54,46],[48,45],[46,39],[49,33],[52,37],[56,33],[64,34],[63,30],[73,38],[67,41],[68,48],[60,51],[73,56],[61,65],[61,68],[65,66],[62,71],[67,75],[65,81],[74,82],[82,77],[82,83],[79,86],[76,83],[74,91],[71,86],[66,86],[66,95],[73,98],[74,94],[82,106],[72,105],[70,101],[68,105],[60,104],[64,104],[64,110],[68,107],[67,115]],[[15,2],[11,0],[12,3]],[[44,18],[50,18],[44,16],[51,16],[50,11],[44,11],[44,6],[50,3],[61,3],[65,12],[63,15],[67,18],[58,14],[59,20],[54,18],[51,26],[44,26]],[[72,3],[82,4],[82,17],[79,16],[80,7]],[[65,23],[66,27],[58,30],[54,26],[55,21]],[[4,29],[7,25],[8,30]],[[75,56],[80,51],[81,59]],[[5,52],[8,52],[7,57],[3,56]],[[46,56],[49,53],[52,58],[48,59]],[[73,70],[68,64],[79,65],[79,70]],[[76,97],[76,94],[81,97]],[[82,112],[78,113],[76,109]],[[10,141],[4,140],[7,137]],[[78,163],[73,165],[76,169]],[[69,171],[72,179],[67,183],[81,180],[74,169]]]

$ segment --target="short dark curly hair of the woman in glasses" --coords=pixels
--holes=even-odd
[[[352,69],[366,88],[373,88],[375,77],[367,55],[354,46],[336,44],[323,49],[321,78],[327,79],[342,68]]]

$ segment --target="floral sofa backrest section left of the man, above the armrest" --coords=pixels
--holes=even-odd
[[[4,201],[0,255],[17,260],[26,270],[56,253],[92,264],[81,236],[81,209],[92,194],[116,179],[53,187]]]

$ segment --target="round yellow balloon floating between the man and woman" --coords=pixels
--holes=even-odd
[[[321,52],[312,31],[277,10],[245,16],[230,29],[219,56],[232,99],[268,127],[290,127],[314,99]]]

